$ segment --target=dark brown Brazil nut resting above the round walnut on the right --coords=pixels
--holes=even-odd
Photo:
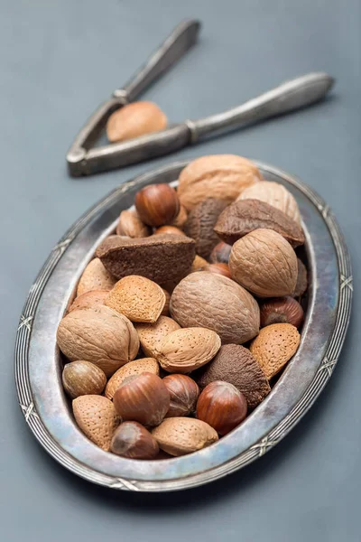
[[[215,232],[225,243],[233,245],[247,233],[260,228],[273,229],[292,247],[304,243],[300,224],[261,200],[240,200],[229,205],[218,217]]]

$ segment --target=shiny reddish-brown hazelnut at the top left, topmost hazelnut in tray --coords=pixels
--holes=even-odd
[[[148,184],[136,192],[135,208],[145,224],[158,227],[176,218],[180,201],[169,184]]]

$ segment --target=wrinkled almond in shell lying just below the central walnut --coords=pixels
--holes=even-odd
[[[164,337],[157,359],[168,372],[188,373],[212,360],[219,349],[220,338],[216,332],[186,328]]]

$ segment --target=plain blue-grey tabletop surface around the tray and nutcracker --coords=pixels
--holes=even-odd
[[[0,0],[0,10],[1,539],[361,540],[360,2]],[[204,23],[199,45],[145,95],[172,121],[310,70],[338,79],[332,98],[153,164],[70,179],[64,158],[79,126],[186,16]],[[309,415],[247,469],[165,496],[106,491],[54,463],[24,423],[13,369],[22,305],[53,245],[106,192],[172,159],[211,153],[278,165],[329,202],[354,265],[345,348]]]

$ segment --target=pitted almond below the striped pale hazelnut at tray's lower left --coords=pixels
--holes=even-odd
[[[98,395],[86,395],[74,399],[72,407],[84,435],[107,452],[119,422],[112,401]]]

